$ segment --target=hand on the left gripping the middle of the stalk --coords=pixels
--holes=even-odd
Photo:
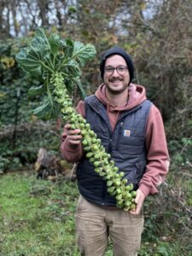
[[[67,141],[70,144],[72,148],[77,147],[81,143],[81,130],[80,129],[71,129],[71,125],[67,124],[64,126],[64,129],[66,130],[67,133]]]

